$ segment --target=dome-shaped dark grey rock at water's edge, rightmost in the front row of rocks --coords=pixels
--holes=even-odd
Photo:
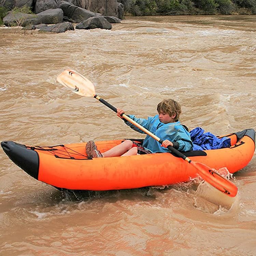
[[[94,29],[94,28],[101,28],[101,29],[111,29],[112,25],[103,18],[102,16],[91,17],[87,20],[79,23],[75,27],[76,29]]]

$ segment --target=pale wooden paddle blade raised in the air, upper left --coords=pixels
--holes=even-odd
[[[85,97],[94,97],[93,83],[75,70],[67,69],[58,75],[57,81],[74,93]]]

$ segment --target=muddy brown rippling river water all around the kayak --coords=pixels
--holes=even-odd
[[[143,138],[97,100],[59,85],[68,68],[127,114],[153,116],[173,98],[189,129],[255,129],[255,32],[256,16],[127,17],[110,31],[60,34],[0,28],[0,140]],[[0,149],[0,255],[253,256],[255,157],[232,181],[239,194],[228,207],[193,182],[76,195],[36,181]]]

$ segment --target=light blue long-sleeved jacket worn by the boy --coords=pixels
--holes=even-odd
[[[174,123],[163,124],[160,122],[158,115],[155,115],[154,117],[148,117],[147,119],[137,118],[134,115],[128,116],[136,123],[140,124],[147,130],[154,133],[158,138],[162,140],[169,140],[171,142],[178,142],[179,151],[192,150],[193,143],[190,139],[189,132],[182,126],[181,122],[178,121]],[[140,133],[145,133],[126,120],[125,123],[133,130]],[[152,153],[169,152],[168,148],[161,147],[161,144],[149,135],[146,136],[142,146],[145,147],[147,150],[151,151]]]

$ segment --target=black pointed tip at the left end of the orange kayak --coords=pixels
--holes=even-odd
[[[34,150],[28,149],[25,145],[3,141],[1,146],[6,155],[27,174],[38,180],[39,156]]]

